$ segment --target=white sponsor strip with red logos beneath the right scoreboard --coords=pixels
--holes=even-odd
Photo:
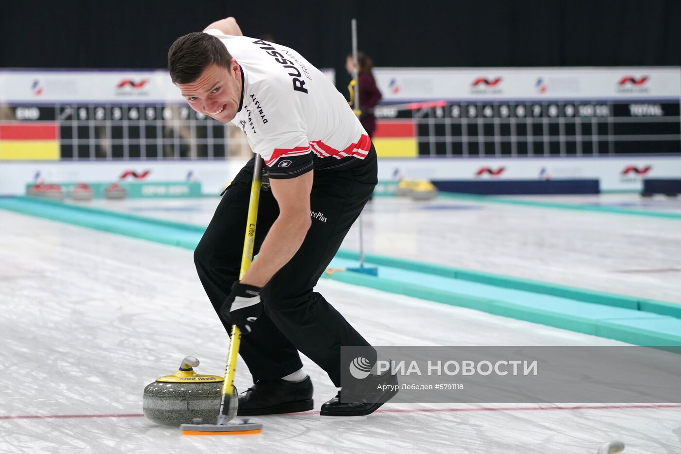
[[[640,191],[644,178],[680,176],[676,157],[383,159],[378,175],[381,181],[598,179],[602,191]]]

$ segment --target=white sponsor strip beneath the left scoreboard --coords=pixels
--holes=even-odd
[[[0,195],[25,194],[35,183],[201,183],[204,195],[220,194],[246,160],[229,161],[110,161],[110,162],[3,162]],[[141,191],[141,190],[140,190]],[[159,191],[148,189],[146,195]],[[180,190],[182,191],[182,190]]]

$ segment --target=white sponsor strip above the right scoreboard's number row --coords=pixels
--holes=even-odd
[[[681,96],[679,67],[377,67],[373,72],[383,102]]]

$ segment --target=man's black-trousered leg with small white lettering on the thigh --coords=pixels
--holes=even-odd
[[[369,346],[313,288],[328,267],[376,184],[373,161],[361,170],[315,173],[312,226],[298,252],[263,288],[266,314],[292,344],[324,369],[340,387],[340,347]],[[370,359],[371,360],[371,359]]]

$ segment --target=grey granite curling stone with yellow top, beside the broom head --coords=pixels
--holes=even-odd
[[[193,367],[194,357],[185,357],[180,369],[172,375],[159,377],[146,385],[142,408],[149,421],[178,427],[202,419],[215,424],[220,412],[223,377],[199,375]]]

